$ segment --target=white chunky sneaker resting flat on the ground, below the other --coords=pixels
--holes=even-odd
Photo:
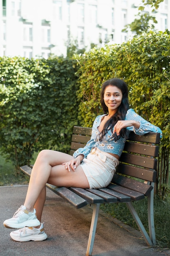
[[[43,223],[41,223],[41,227],[39,229],[36,229],[35,227],[24,227],[23,229],[12,231],[10,236],[17,242],[28,242],[30,240],[43,241],[47,239]]]

